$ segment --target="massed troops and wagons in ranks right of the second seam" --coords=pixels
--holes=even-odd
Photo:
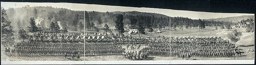
[[[235,45],[220,37],[171,38],[171,57],[234,57]]]

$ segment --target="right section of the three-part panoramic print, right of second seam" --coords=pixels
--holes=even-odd
[[[171,60],[254,60],[254,14],[171,10]]]

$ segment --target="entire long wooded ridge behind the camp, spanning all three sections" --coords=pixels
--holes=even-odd
[[[122,14],[124,19],[124,25],[135,26],[137,22],[142,22],[145,28],[157,27],[164,28],[169,26],[169,17],[158,13],[147,13],[138,11],[115,11],[115,12],[98,12],[87,11],[89,17],[89,23],[86,26],[92,27],[87,24],[95,24],[96,27],[104,27],[107,24],[110,28],[114,28],[116,16]],[[51,22],[60,23],[60,27],[78,27],[78,23],[84,24],[84,11],[72,11],[66,8],[53,8],[51,6],[46,7],[22,7],[22,8],[9,8],[6,9],[7,20],[13,21],[12,25],[27,27],[29,24],[29,18],[34,17],[36,24],[45,23],[45,26],[50,27]],[[86,15],[87,15],[86,14]],[[87,20],[86,20],[87,21]],[[235,25],[234,22],[225,21],[207,21],[203,19],[190,19],[184,17],[171,17],[172,29],[179,28],[205,28],[205,26],[219,26],[219,25]]]

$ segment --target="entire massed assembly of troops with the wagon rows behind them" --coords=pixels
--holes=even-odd
[[[92,35],[92,36],[90,36]],[[95,32],[39,32],[30,35],[28,42],[17,43],[12,54],[95,56],[123,55],[130,60],[147,60],[148,56],[163,57],[234,57],[239,49],[221,37],[167,37],[136,38],[131,35],[118,38],[118,34]],[[40,36],[40,37],[39,37]],[[49,36],[49,38],[48,38]],[[34,39],[35,38],[35,39]],[[78,42],[84,42],[78,43]],[[67,43],[70,42],[70,43]],[[127,45],[127,47],[121,47]],[[145,47],[141,48],[144,45]],[[85,46],[85,47],[84,47]],[[130,48],[129,51],[128,48]],[[140,50],[136,50],[139,49]],[[8,52],[8,51],[7,51]],[[241,55],[241,53],[239,53]]]

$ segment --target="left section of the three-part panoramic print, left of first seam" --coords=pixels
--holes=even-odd
[[[83,10],[83,4],[1,2],[1,61],[84,61]]]

